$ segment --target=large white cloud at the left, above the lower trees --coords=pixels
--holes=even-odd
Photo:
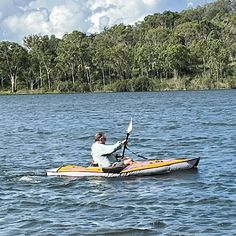
[[[26,1],[25,1],[26,2]],[[86,19],[90,9],[82,1],[57,1],[57,5],[44,0],[28,1],[15,7],[15,13],[4,18],[1,25],[8,37],[17,41],[29,34],[55,34],[62,37],[75,29],[86,32],[91,23]],[[4,36],[4,35],[3,35]]]

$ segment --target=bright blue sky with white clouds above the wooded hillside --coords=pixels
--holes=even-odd
[[[22,43],[32,34],[62,38],[91,34],[115,24],[134,24],[163,11],[194,8],[215,0],[0,0],[0,41]]]

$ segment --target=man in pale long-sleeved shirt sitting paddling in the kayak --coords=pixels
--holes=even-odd
[[[133,162],[130,158],[122,158],[117,160],[115,152],[123,145],[127,145],[126,140],[117,142],[113,145],[106,145],[106,136],[103,132],[95,135],[95,142],[91,147],[91,155],[93,162],[98,164],[99,167],[112,167],[112,166],[125,166]]]

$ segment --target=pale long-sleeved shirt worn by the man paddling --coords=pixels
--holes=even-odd
[[[91,155],[93,161],[98,164],[99,167],[109,167],[117,161],[115,151],[122,147],[122,143],[117,142],[114,145],[105,145],[95,142],[91,147]]]

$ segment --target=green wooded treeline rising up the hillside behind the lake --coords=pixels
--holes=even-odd
[[[236,0],[62,39],[0,42],[1,92],[236,88]]]

